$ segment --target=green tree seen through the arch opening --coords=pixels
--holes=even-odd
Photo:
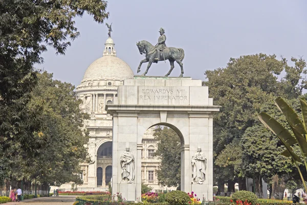
[[[161,159],[157,178],[163,186],[177,187],[181,184],[181,142],[178,134],[171,128],[157,128],[153,134],[158,140],[155,156]]]

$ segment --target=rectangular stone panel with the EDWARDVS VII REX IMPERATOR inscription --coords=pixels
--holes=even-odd
[[[189,87],[139,86],[139,105],[189,105]]]

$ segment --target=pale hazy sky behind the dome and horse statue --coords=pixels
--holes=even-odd
[[[113,23],[112,38],[117,57],[126,61],[135,74],[140,60],[136,42],[155,45],[159,29],[165,29],[166,45],[183,48],[184,76],[205,79],[204,71],[226,67],[230,57],[266,53],[304,56],[307,59],[307,1],[182,1],[117,0],[109,1]],[[36,66],[54,73],[55,79],[80,84],[86,68],[102,56],[107,27],[84,15],[76,19],[81,36],[67,50],[55,55],[50,48],[43,54],[45,63]],[[147,64],[143,64],[141,73]],[[169,62],[153,64],[147,75],[164,76]],[[179,76],[180,67],[170,76]]]

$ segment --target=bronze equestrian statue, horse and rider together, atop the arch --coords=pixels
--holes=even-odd
[[[140,54],[145,54],[145,59],[141,60],[140,65],[138,67],[138,73],[141,71],[141,66],[143,63],[148,62],[146,71],[142,74],[145,76],[151,66],[152,63],[158,63],[158,61],[162,60],[169,60],[170,63],[170,70],[165,76],[169,76],[171,71],[174,68],[174,61],[176,61],[180,68],[181,74],[179,77],[183,76],[183,64],[182,60],[184,58],[184,50],[182,48],[173,48],[167,47],[165,44],[166,36],[163,28],[160,28],[160,37],[158,39],[158,44],[156,46],[152,46],[146,40],[142,40],[141,42],[137,43],[138,49]]]

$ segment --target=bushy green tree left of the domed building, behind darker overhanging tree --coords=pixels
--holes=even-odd
[[[9,165],[11,179],[36,179],[46,188],[70,181],[82,183],[80,163],[91,161],[84,147],[89,135],[80,128],[89,116],[79,109],[82,102],[77,100],[74,89],[69,83],[53,80],[47,72],[38,75],[38,85],[27,107],[42,105],[42,129],[34,136],[43,140],[44,146],[36,150],[37,155],[27,158],[27,152],[16,143],[13,147],[16,155],[11,156]]]

